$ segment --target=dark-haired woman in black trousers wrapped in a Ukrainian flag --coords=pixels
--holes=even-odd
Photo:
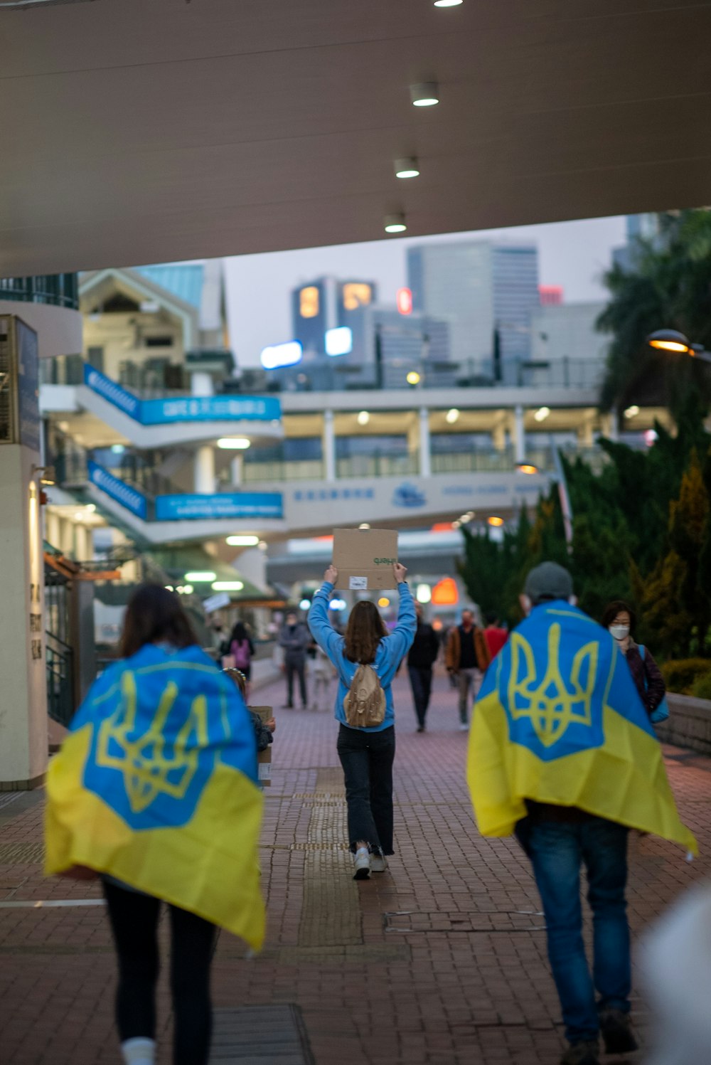
[[[155,1060],[156,930],[168,904],[173,1062],[204,1065],[216,925],[254,949],[264,938],[254,730],[167,589],[135,592],[121,653],[50,766],[46,871],[101,876],[131,1065]]]

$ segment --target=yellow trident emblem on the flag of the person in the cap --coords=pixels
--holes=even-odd
[[[569,677],[573,690],[568,691],[560,671],[560,640],[561,627],[552,624],[548,629],[546,673],[536,685],[533,649],[519,633],[511,636],[511,716],[514,719],[530,718],[535,735],[544,747],[557,743],[569,724],[592,726],[591,703],[599,646],[596,641],[591,641],[580,648],[573,659]]]

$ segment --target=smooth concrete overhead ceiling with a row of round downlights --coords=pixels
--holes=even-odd
[[[0,276],[706,204],[709,39],[711,0],[0,4]]]

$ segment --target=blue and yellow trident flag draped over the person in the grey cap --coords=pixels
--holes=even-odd
[[[508,836],[526,799],[577,806],[697,852],[624,655],[582,610],[531,612],[484,677],[467,780],[483,836]]]

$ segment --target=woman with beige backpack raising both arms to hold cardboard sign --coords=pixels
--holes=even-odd
[[[340,723],[337,750],[346,782],[353,880],[383,872],[386,855],[393,853],[395,708],[391,686],[417,627],[407,572],[404,566],[394,563],[400,608],[390,635],[375,603],[366,600],[351,610],[346,635],[336,633],[328,617],[338,578],[333,566],[324,574],[309,611],[312,635],[338,675],[334,709]]]

